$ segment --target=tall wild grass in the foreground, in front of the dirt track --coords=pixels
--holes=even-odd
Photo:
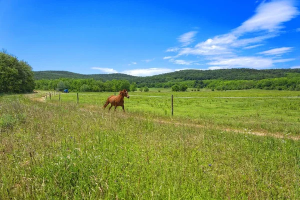
[[[16,95],[0,97],[0,166],[0,199],[300,198],[299,140]]]

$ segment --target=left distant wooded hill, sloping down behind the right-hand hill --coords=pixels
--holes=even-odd
[[[123,73],[109,73],[109,74],[80,74],[69,71],[34,71],[35,80],[40,79],[58,79],[58,78],[93,78],[95,80],[112,80],[112,79],[127,79],[131,81],[136,76],[127,75]]]

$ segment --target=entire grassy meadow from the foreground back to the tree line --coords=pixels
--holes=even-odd
[[[300,92],[44,93],[0,96],[0,199],[300,198]]]

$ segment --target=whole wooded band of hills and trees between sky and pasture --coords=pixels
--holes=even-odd
[[[126,88],[132,91],[136,87],[163,87],[175,91],[184,91],[187,87],[212,90],[300,90],[300,69],[190,69],[146,77],[121,73],[84,75],[68,71],[35,71],[35,77],[43,77],[35,81],[35,88],[44,90],[68,88],[71,91],[118,91]]]

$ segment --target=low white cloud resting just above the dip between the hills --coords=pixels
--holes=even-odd
[[[172,71],[174,70],[169,68],[137,68],[137,69],[124,70],[122,71],[122,73],[135,75],[135,76],[150,76],[150,75],[156,75],[156,74],[167,73]]]

